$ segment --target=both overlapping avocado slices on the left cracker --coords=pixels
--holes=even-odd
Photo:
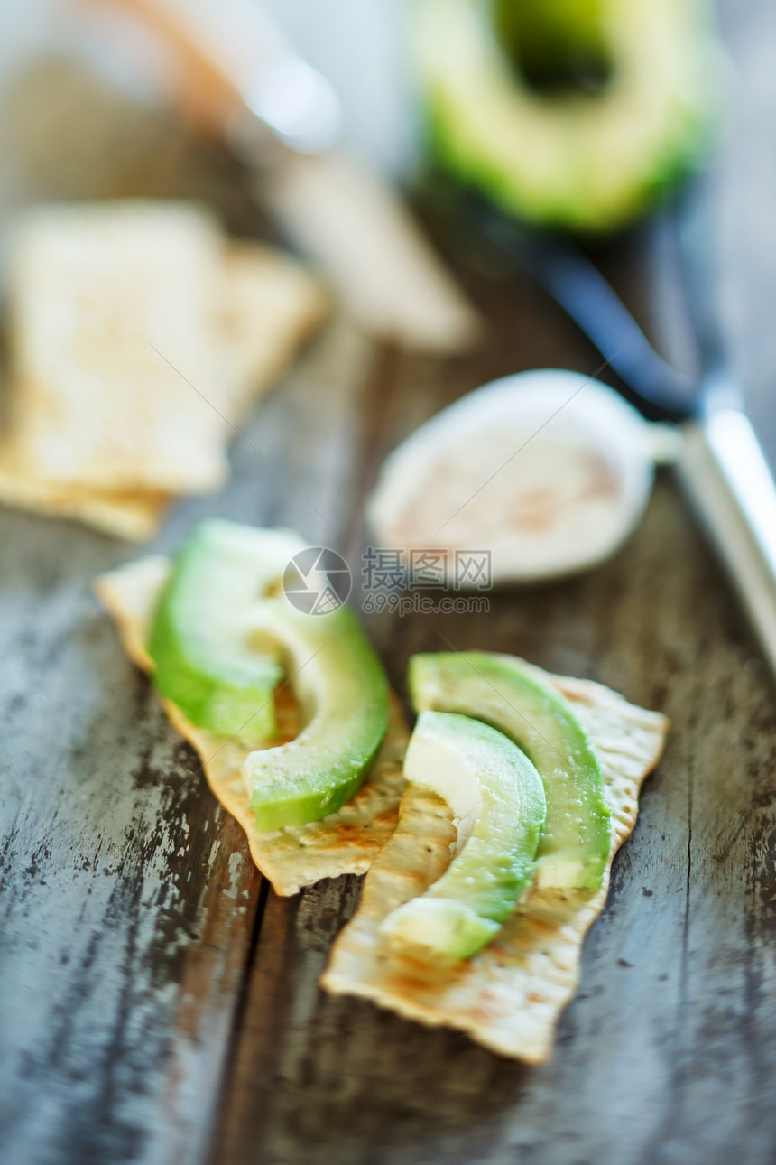
[[[255,743],[277,736],[286,677],[305,727],[248,754],[259,829],[316,821],[361,786],[387,728],[385,672],[347,607],[312,615],[282,589],[297,535],[204,522],[177,556],[149,652],[157,689],[195,725]]]

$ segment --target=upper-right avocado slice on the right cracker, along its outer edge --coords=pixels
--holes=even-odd
[[[413,656],[408,685],[417,712],[475,716],[531,757],[547,797],[536,884],[597,890],[612,842],[610,812],[598,756],[569,702],[518,661],[478,651]]]

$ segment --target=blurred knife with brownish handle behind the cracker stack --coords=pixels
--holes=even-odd
[[[329,277],[366,331],[458,353],[482,318],[387,183],[336,146],[339,101],[248,0],[81,0],[150,29],[168,82],[198,127],[225,137],[256,174],[280,232]]]

